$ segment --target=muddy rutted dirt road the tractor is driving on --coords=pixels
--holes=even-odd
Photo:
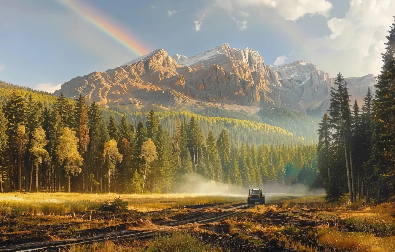
[[[277,195],[267,196],[266,204],[291,199],[301,196]],[[244,213],[251,205],[240,204],[235,207],[222,209],[220,207],[201,207],[199,209],[190,209],[187,214],[173,216],[171,219],[143,221],[135,226],[118,225],[105,229],[95,229],[86,236],[75,239],[62,239],[57,241],[30,242],[24,244],[9,244],[6,247],[0,247],[1,252],[21,252],[21,251],[38,251],[54,250],[58,251],[60,247],[70,244],[94,243],[104,240],[122,240],[127,238],[142,239],[151,237],[154,233],[161,231],[179,230],[191,227],[191,225],[207,224],[212,222],[221,222],[227,218]],[[89,230],[88,230],[89,231]],[[86,233],[86,232],[85,232]]]

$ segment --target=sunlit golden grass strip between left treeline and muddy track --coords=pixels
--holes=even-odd
[[[115,197],[128,201],[128,209],[139,212],[180,209],[186,205],[203,205],[219,202],[241,203],[242,196],[200,194],[81,194],[32,193],[0,194],[0,215],[58,215],[100,209],[105,201]]]

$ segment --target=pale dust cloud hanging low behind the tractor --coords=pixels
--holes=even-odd
[[[181,182],[182,181],[182,182]],[[189,193],[189,194],[233,194],[233,195],[247,195],[248,189],[240,188],[232,184],[224,184],[220,182],[210,181],[198,173],[187,173],[173,185],[173,192]],[[292,186],[265,184],[259,189],[263,189],[264,194],[298,194],[298,195],[312,195],[325,194],[322,188],[309,188],[303,184],[294,184]]]

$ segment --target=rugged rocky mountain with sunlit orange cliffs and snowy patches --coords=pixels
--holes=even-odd
[[[373,75],[348,81],[352,99],[358,101],[375,83]],[[329,74],[314,64],[299,60],[282,66],[265,65],[257,51],[232,49],[226,43],[190,57],[169,56],[158,49],[115,69],[71,79],[55,95],[62,92],[73,98],[82,93],[88,100],[105,105],[143,107],[156,103],[174,108],[209,102],[258,110],[276,105],[321,114],[328,107],[332,85]]]

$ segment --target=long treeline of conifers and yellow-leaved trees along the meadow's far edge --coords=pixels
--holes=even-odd
[[[218,137],[213,131],[204,137],[199,122],[282,130],[273,126],[154,111],[144,122],[129,118],[128,123],[124,115],[117,123],[102,113],[81,95],[71,102],[61,94],[50,108],[14,88],[0,113],[2,192],[171,192],[191,172],[248,188],[296,182],[312,186],[317,175],[314,146],[238,145],[226,128]],[[170,134],[162,117],[171,116],[175,127]]]

